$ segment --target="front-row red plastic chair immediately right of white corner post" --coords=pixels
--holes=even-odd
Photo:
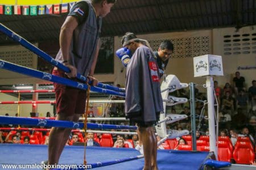
[[[231,162],[232,151],[229,148],[229,143],[226,141],[218,141],[218,160]]]

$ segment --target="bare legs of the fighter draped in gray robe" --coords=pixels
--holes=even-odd
[[[143,128],[138,127],[139,133],[141,133],[141,141],[143,143],[143,152],[144,152],[144,170],[151,169],[151,155],[152,153],[152,146],[154,142],[152,141],[151,137],[151,128]]]

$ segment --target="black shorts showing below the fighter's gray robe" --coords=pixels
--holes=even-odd
[[[131,112],[129,114],[126,114],[126,118],[129,118],[130,120],[130,126],[134,126],[137,124],[139,127],[148,128],[148,127],[154,127],[157,122],[159,121],[160,112],[156,112],[156,120],[155,121],[144,121],[143,113],[141,111],[138,112]]]

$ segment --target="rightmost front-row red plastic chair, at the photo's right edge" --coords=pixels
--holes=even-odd
[[[233,158],[237,164],[252,164],[255,153],[251,149],[250,142],[237,142],[233,152]]]

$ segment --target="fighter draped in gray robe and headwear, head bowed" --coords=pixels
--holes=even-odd
[[[122,46],[133,53],[126,69],[126,117],[138,126],[139,139],[143,143],[144,169],[158,169],[154,125],[163,112],[163,101],[156,57],[134,33],[127,32],[123,36]]]

